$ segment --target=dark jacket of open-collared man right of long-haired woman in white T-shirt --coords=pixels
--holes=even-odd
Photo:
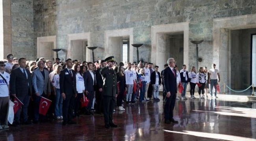
[[[83,74],[83,81],[84,81],[85,90],[87,90],[88,92],[93,92],[95,84],[93,83],[93,77],[91,76],[91,73],[89,71],[86,71]],[[96,81],[96,78],[95,78],[95,81]]]

